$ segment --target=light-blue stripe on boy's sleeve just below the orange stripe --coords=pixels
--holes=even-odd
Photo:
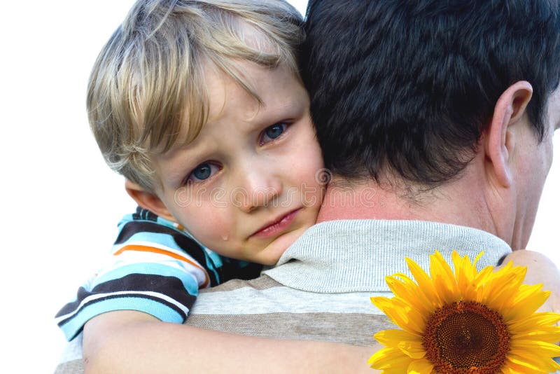
[[[192,274],[190,274],[190,272],[188,272],[187,270],[180,270],[172,266],[162,265],[161,263],[132,263],[130,265],[120,266],[94,279],[94,282],[91,282],[90,287],[87,288],[87,291],[91,291],[98,284],[119,279],[130,274],[162,275],[165,277],[176,277],[178,279],[181,279],[181,282],[183,283],[183,287],[185,287],[186,292],[190,293],[190,295],[193,296],[198,295],[197,279]],[[115,291],[127,291],[127,290],[115,290]]]

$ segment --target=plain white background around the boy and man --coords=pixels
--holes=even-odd
[[[304,12],[306,1],[293,1]],[[92,272],[134,209],[87,125],[97,53],[132,0],[8,1],[0,15],[0,334],[8,373],[50,373],[64,346],[53,316]],[[299,4],[298,4],[299,3]],[[555,139],[560,146],[560,137]],[[554,162],[529,248],[560,264]],[[15,362],[18,362],[17,366]]]

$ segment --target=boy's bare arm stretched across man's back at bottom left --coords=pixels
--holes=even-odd
[[[367,359],[380,347],[233,335],[123,310],[87,322],[83,360],[85,373],[379,373]]]

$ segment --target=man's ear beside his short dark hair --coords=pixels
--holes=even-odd
[[[511,186],[511,156],[515,147],[512,125],[524,116],[527,104],[531,101],[533,86],[526,81],[510,85],[496,102],[491,123],[486,130],[486,159],[491,171],[503,187]]]

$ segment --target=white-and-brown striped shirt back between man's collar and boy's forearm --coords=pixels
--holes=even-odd
[[[267,275],[204,290],[186,324],[242,335],[373,344],[372,331],[394,328],[373,307],[372,292],[313,292]]]

